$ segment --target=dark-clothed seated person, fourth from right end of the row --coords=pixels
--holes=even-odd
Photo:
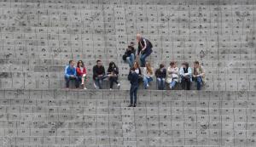
[[[157,69],[154,73],[156,77],[156,82],[157,82],[157,87],[159,90],[164,90],[165,89],[165,84],[166,84],[166,68],[165,65],[160,64],[160,68]]]

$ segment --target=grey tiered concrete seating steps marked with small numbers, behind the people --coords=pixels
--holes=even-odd
[[[255,147],[253,0],[1,0],[1,147]],[[139,92],[122,54],[142,32],[156,68],[199,60],[203,91]],[[121,90],[63,88],[69,59],[118,63]],[[108,83],[105,83],[107,88]],[[92,82],[88,83],[92,88]]]

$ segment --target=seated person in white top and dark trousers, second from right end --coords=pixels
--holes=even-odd
[[[179,69],[179,75],[181,76],[181,85],[183,90],[190,90],[190,84],[192,82],[192,70],[189,67],[188,62],[184,62]]]

